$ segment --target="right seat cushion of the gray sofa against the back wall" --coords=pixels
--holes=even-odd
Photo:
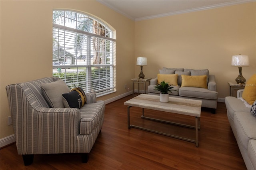
[[[218,99],[218,92],[199,87],[180,87],[179,95],[184,97],[196,97],[200,99]]]

